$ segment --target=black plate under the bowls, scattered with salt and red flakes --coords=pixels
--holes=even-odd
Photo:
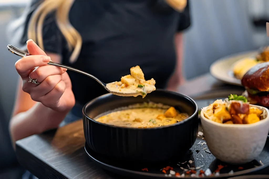
[[[199,131],[202,131],[201,126],[199,126]],[[201,167],[201,169],[196,170],[197,174],[200,172],[200,170],[206,171],[208,168],[213,173],[218,168],[218,165],[221,164],[222,166],[225,166],[220,170],[219,176],[204,176],[203,178],[230,178],[247,174],[259,174],[258,171],[260,172],[269,170],[268,168],[266,168],[269,166],[269,136],[267,138],[264,149],[259,155],[259,157],[257,157],[256,160],[253,160],[250,163],[240,166],[226,164],[224,162],[221,162],[220,160],[217,160],[211,153],[208,153],[209,150],[206,144],[201,145],[203,142],[205,142],[203,140],[203,136],[198,135],[196,142],[185,156],[179,159],[175,159],[173,161],[155,164],[120,163],[93,152],[87,145],[85,145],[85,150],[90,159],[93,160],[100,167],[113,173],[131,178],[178,178],[175,177],[175,175],[172,175],[171,177],[165,176],[165,174],[162,173],[161,169],[167,166],[171,166],[174,168],[174,171],[182,174],[183,170],[180,169],[180,167],[188,169],[187,164],[189,163],[189,160],[193,161],[192,164],[188,164],[190,167]],[[182,164],[184,162],[186,163]],[[243,167],[243,169],[239,169],[239,167]],[[147,168],[148,171],[142,171],[142,169],[144,168]],[[229,174],[231,170],[233,170],[233,174]],[[169,171],[167,173],[169,174]],[[181,178],[189,177],[186,177],[185,175],[185,177]]]

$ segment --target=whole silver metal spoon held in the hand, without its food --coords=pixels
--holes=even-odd
[[[8,45],[8,50],[15,54],[15,55],[18,55],[20,57],[26,57],[28,55],[30,55],[29,53],[27,52],[24,52],[22,50],[20,50],[19,48],[17,47],[14,47],[12,45]],[[111,91],[107,88],[107,84],[102,82],[100,79],[96,78],[95,76],[89,74],[89,73],[86,73],[84,71],[81,71],[81,70],[78,70],[76,68],[72,68],[70,66],[66,66],[66,65],[62,65],[62,64],[59,64],[59,63],[56,63],[56,62],[48,62],[49,65],[54,65],[54,66],[59,66],[59,67],[62,67],[62,68],[66,68],[66,69],[69,69],[69,70],[72,70],[72,71],[75,71],[75,72],[78,72],[78,73],[82,73],[83,75],[86,75],[86,76],[89,76],[91,78],[93,78],[94,80],[96,80],[98,83],[100,83],[109,93],[112,93],[112,94],[115,94],[115,95],[118,95],[118,96],[138,96],[140,95],[140,92],[139,93],[120,93],[120,92],[114,92],[114,91]]]

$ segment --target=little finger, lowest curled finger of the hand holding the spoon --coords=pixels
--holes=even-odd
[[[65,89],[65,82],[61,80],[48,94],[41,97],[42,104],[47,107],[52,107],[51,105],[55,104],[55,108],[61,106],[59,100],[65,92]]]

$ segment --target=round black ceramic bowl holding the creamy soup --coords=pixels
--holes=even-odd
[[[93,120],[109,110],[149,101],[174,106],[190,117],[156,128],[117,127]],[[198,107],[194,100],[165,90],[156,90],[145,98],[105,94],[83,107],[86,143],[94,152],[115,160],[157,162],[184,155],[196,140],[198,123]]]

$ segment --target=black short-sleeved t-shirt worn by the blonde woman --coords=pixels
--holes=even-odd
[[[23,37],[29,19],[42,1],[34,0],[27,9]],[[65,38],[54,14],[44,22],[44,48],[62,55],[62,63],[88,72],[105,83],[119,81],[139,65],[145,79],[154,78],[156,88],[165,88],[176,66],[174,35],[190,26],[189,4],[176,12],[164,0],[76,0],[69,12],[70,23],[80,33],[83,45],[77,61],[69,63]],[[95,80],[68,71],[73,92],[85,104],[107,91]]]

